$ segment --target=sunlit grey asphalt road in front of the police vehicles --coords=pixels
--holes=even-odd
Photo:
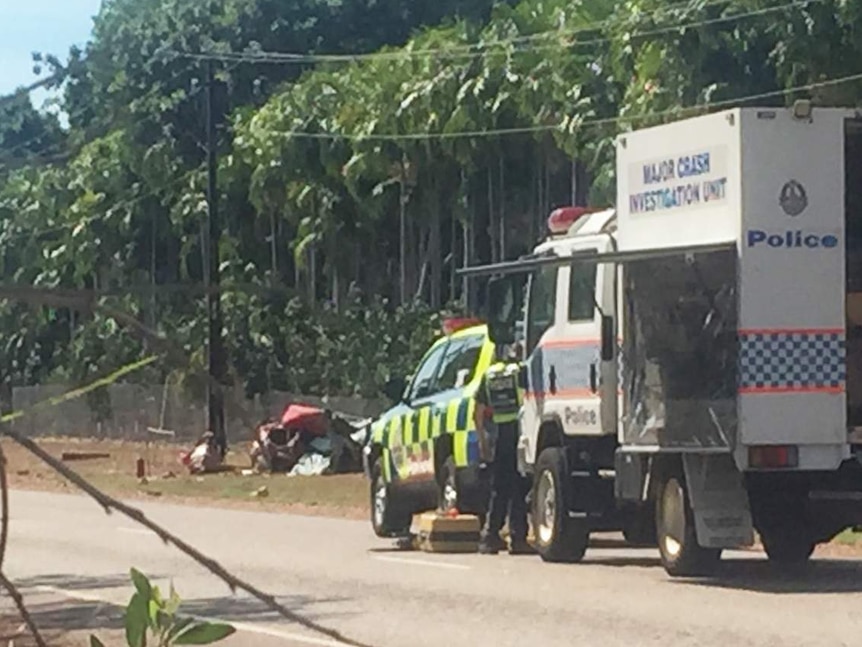
[[[74,495],[12,494],[7,574],[28,599],[67,598],[79,628],[124,605],[135,566],[172,577],[184,609],[230,620],[229,645],[336,645],[282,621],[176,549]],[[137,504],[136,504],[137,505]],[[670,580],[657,551],[605,542],[584,563],[397,552],[365,522],[145,502],[147,515],[290,608],[375,647],[858,645],[862,562],[815,560],[775,573],[725,557],[709,581]],[[57,622],[56,618],[54,622]],[[99,621],[101,622],[101,620]]]

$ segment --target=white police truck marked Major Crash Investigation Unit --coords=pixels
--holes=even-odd
[[[738,108],[617,140],[615,209],[562,208],[489,276],[524,298],[536,545],[658,545],[672,576],[749,546],[805,562],[862,523],[862,113]],[[516,315],[517,316],[517,315]]]

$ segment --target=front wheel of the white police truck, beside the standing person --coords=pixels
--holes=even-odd
[[[531,507],[536,550],[546,562],[579,562],[587,551],[586,521],[569,517],[571,482],[562,448],[543,450],[536,462]]]

